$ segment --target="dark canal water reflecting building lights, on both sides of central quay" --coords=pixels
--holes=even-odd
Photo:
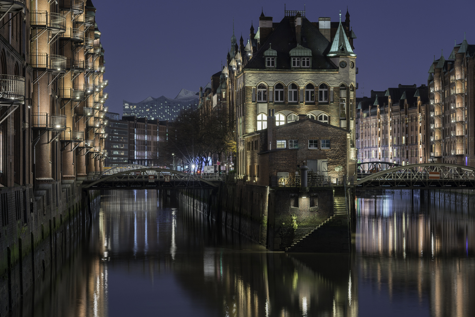
[[[80,247],[14,315],[474,316],[475,211],[424,201],[358,197],[351,255],[286,254],[156,191],[105,192]]]

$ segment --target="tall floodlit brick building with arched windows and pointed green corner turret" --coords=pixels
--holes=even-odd
[[[250,173],[244,135],[266,128],[268,110],[274,110],[276,125],[305,115],[347,129],[347,171],[354,173],[356,37],[348,12],[336,29],[332,25],[329,18],[311,22],[305,11],[285,10],[278,23],[262,13],[256,34],[251,26],[246,47],[242,38],[238,46],[233,34],[223,74],[226,104],[236,117],[238,179]]]

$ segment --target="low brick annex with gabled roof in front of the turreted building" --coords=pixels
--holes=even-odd
[[[351,162],[347,129],[299,115],[296,121],[276,125],[276,116],[267,116],[266,129],[244,134],[247,183],[277,186],[294,183],[300,165],[335,184],[346,175]],[[341,166],[342,170],[335,169]],[[330,177],[330,179],[326,177]]]

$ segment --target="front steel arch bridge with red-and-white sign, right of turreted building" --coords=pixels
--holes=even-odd
[[[475,167],[448,163],[396,166],[355,183],[357,189],[474,189]]]

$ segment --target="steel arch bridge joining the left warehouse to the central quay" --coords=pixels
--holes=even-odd
[[[82,189],[84,190],[214,189],[217,187],[217,184],[190,173],[150,167],[131,168],[126,171],[103,175],[95,181],[87,180],[82,183]]]

